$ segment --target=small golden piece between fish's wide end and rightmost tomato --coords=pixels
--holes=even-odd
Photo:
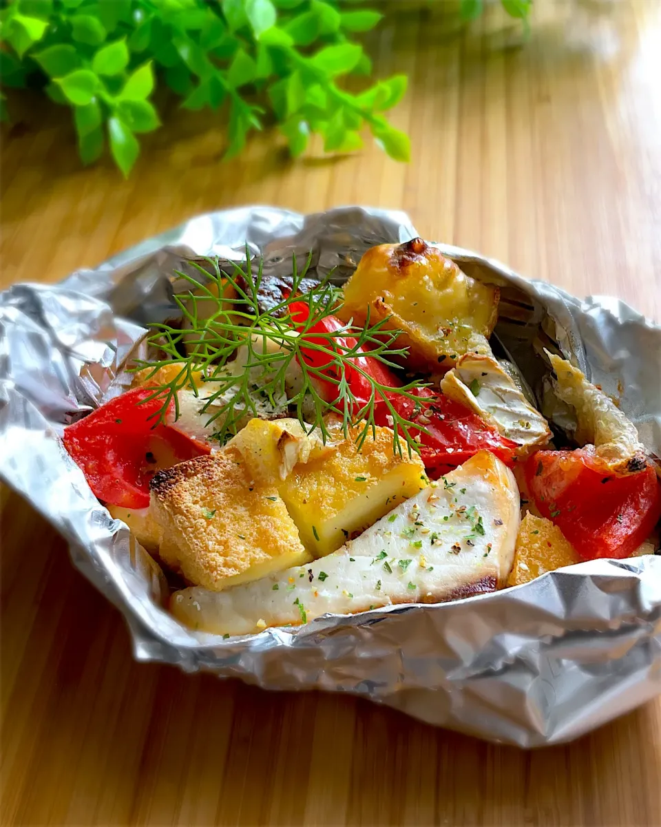
[[[516,538],[514,564],[509,586],[519,586],[563,566],[581,562],[558,526],[545,517],[526,514]]]

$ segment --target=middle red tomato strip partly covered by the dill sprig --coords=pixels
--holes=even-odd
[[[309,305],[305,302],[294,302],[290,305],[290,316],[295,323],[302,324],[309,318]],[[309,327],[303,336],[315,333],[328,333],[342,330],[346,325],[334,316],[327,316],[318,323]],[[314,342],[314,335],[310,337]],[[350,351],[356,347],[357,340],[354,337],[338,337],[333,340],[340,351]],[[336,368],[331,364],[328,356],[319,351],[301,348],[305,363],[322,370],[327,375],[339,379]],[[388,385],[391,388],[400,387],[401,383],[397,376],[388,369],[381,361],[369,356],[369,351],[361,349],[360,356],[352,356],[351,361],[364,370],[367,375],[376,380],[380,385]],[[356,414],[371,398],[371,384],[366,380],[359,370],[353,370],[347,366],[345,375],[352,393],[356,398],[353,414]],[[327,402],[335,402],[338,394],[338,386],[333,382],[324,382],[317,378],[320,390]],[[414,399],[392,391],[386,394],[386,398],[376,399],[374,419],[377,425],[392,425],[392,419],[388,403],[392,405],[396,413],[408,421],[419,421],[420,427],[427,433],[412,428],[411,433],[420,437],[420,457],[426,468],[440,473],[447,473],[448,470],[461,465],[478,451],[486,450],[496,454],[496,457],[511,465],[515,459],[515,450],[518,447],[516,442],[501,437],[496,428],[484,422],[472,410],[464,407],[453,399],[448,399],[443,394],[436,394],[429,388],[419,388],[414,391],[419,402]],[[414,411],[414,409],[418,409]],[[416,417],[421,417],[416,419]]]

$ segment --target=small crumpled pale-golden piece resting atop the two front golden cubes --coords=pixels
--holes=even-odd
[[[306,433],[298,419],[251,419],[228,442],[247,461],[251,472],[262,482],[285,480],[294,466],[332,453],[321,433]]]

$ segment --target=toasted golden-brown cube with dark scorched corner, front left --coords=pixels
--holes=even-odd
[[[151,516],[163,562],[213,591],[312,559],[275,486],[254,480],[234,451],[156,474]]]

